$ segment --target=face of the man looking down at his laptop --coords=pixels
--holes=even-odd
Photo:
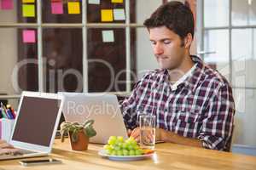
[[[181,38],[174,32],[160,26],[149,29],[155,58],[161,69],[178,69],[183,63],[185,48]]]

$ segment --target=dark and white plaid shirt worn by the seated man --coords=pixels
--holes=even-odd
[[[139,111],[156,116],[156,126],[183,137],[200,139],[203,147],[223,150],[230,139],[235,104],[227,80],[197,56],[195,70],[172,89],[166,70],[150,71],[121,105],[125,126],[138,126]]]

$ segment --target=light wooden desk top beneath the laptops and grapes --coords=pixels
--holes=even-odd
[[[69,141],[61,144],[55,139],[52,157],[63,161],[58,165],[40,165],[22,167],[19,160],[0,161],[0,169],[47,169],[47,170],[102,170],[102,169],[256,169],[256,157],[232,154],[216,150],[206,150],[179,144],[156,144],[156,155],[143,161],[109,161],[97,155],[102,149],[101,144],[90,144],[87,151],[73,151]],[[32,159],[32,158],[30,158]]]

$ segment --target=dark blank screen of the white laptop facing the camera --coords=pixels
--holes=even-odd
[[[21,102],[12,139],[49,146],[61,99],[24,96]]]

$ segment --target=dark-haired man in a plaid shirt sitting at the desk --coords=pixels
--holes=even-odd
[[[139,140],[139,111],[156,116],[156,139],[177,144],[224,150],[231,137],[234,99],[226,79],[189,54],[194,19],[189,7],[170,2],[148,20],[160,70],[137,82],[121,105],[125,126]]]

